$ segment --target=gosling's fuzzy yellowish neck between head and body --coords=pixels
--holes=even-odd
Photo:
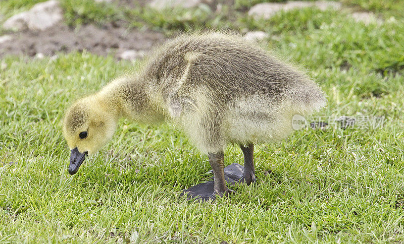
[[[164,121],[162,109],[151,101],[144,83],[138,79],[118,78],[100,90],[97,97],[117,120],[125,117],[142,124],[160,124]]]

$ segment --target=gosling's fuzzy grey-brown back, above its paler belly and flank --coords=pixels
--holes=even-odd
[[[164,45],[151,62],[150,76],[165,92],[208,88],[223,102],[240,95],[296,95],[301,102],[323,99],[304,74],[239,36],[223,33],[183,35]],[[301,86],[316,88],[311,97],[290,94]]]

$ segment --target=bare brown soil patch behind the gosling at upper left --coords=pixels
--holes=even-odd
[[[165,39],[159,32],[128,29],[119,24],[108,24],[102,28],[92,24],[80,27],[58,24],[43,31],[26,30],[10,35],[11,40],[0,43],[0,56],[54,55],[84,49],[98,55],[118,56],[125,50],[147,52]]]

